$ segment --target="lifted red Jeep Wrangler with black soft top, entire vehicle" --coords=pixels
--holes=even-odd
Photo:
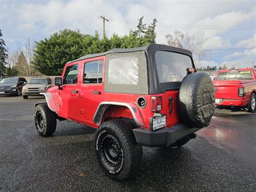
[[[98,161],[116,180],[136,171],[141,146],[184,145],[215,108],[211,78],[195,72],[190,51],[167,45],[83,56],[55,84],[36,104],[37,131],[51,135],[57,119],[96,128]]]

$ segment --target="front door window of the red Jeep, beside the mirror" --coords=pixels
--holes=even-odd
[[[78,64],[66,68],[63,84],[77,84]]]

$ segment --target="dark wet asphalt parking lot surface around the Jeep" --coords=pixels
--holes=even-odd
[[[143,148],[138,174],[116,182],[99,168],[93,132],[58,122],[40,137],[35,102],[0,97],[0,191],[256,191],[256,115],[216,109],[211,125],[180,149]]]

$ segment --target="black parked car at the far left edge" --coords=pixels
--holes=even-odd
[[[27,83],[23,77],[8,77],[0,81],[0,95],[21,95],[22,87]]]

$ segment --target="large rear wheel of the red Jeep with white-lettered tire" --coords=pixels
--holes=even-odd
[[[103,170],[115,180],[124,180],[138,168],[142,147],[136,143],[132,125],[124,120],[109,120],[95,133],[95,151]]]

